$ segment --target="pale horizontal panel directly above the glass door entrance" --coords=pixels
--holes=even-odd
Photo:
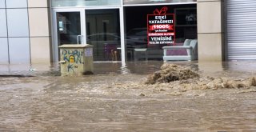
[[[121,0],[52,0],[52,6],[120,6]]]

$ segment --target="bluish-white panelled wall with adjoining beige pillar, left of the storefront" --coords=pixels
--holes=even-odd
[[[0,64],[50,63],[49,0],[0,0]]]

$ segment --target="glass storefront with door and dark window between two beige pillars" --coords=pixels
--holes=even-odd
[[[162,60],[162,46],[197,38],[196,3],[195,0],[52,0],[54,62],[58,62],[58,46],[81,43],[94,46],[97,62],[140,60],[134,56],[136,49],[146,49],[148,59]],[[162,26],[172,28],[150,38],[149,20],[156,22],[152,20],[157,18],[155,11],[166,14],[165,22],[170,22],[162,23],[158,31]]]

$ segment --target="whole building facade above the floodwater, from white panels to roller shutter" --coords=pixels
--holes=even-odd
[[[140,59],[134,49],[162,60],[162,46],[187,38],[198,39],[199,62],[256,59],[255,7],[254,0],[0,0],[0,64],[58,62],[58,46],[83,43],[98,62]]]

